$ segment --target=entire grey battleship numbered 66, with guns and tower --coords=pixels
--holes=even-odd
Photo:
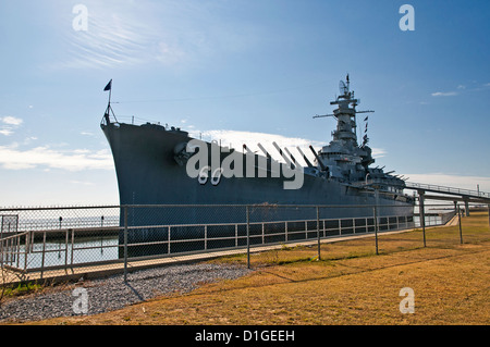
[[[373,205],[379,206],[380,216],[408,218],[414,213],[415,201],[404,194],[403,177],[372,166],[375,159],[366,133],[358,142],[357,116],[373,111],[356,110],[359,99],[351,90],[348,75],[345,82],[340,82],[340,95],[330,102],[336,107],[333,113],[314,116],[336,120],[330,144],[319,150],[311,146],[297,148],[306,165],[277,144],[273,145],[283,159],[281,162],[260,144],[262,152],[257,153],[246,144],[233,149],[193,138],[180,127],[119,122],[110,103],[111,83],[105,89],[109,90],[109,103],[100,126],[112,151],[120,203],[169,206],[166,213],[132,209],[126,221],[121,213],[121,224],[188,225],[244,220],[243,213],[236,215],[233,209],[224,213],[199,213],[200,206],[345,207],[324,209],[321,212],[324,219],[372,216]],[[310,151],[310,158],[315,159],[309,160],[305,151]],[[183,213],[179,206],[191,207]],[[256,218],[302,219],[301,210],[282,211],[269,211],[267,216],[257,214]]]

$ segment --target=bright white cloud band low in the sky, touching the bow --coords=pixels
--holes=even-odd
[[[113,170],[108,150],[60,150],[49,146],[19,149],[16,145],[0,146],[0,165],[8,170],[61,169],[68,171]]]

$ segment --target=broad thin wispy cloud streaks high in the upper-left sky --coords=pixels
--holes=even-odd
[[[162,3],[163,2],[163,3]],[[225,1],[85,0],[87,29],[64,34],[69,55],[57,66],[69,69],[177,66],[199,62],[217,51],[247,47],[253,24],[226,23],[219,16]],[[75,14],[72,14],[75,20]],[[60,18],[66,22],[66,18]],[[244,27],[246,26],[246,27]]]

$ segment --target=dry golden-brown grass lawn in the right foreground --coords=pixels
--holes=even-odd
[[[40,324],[489,324],[490,231],[485,213],[458,227],[286,248],[253,256],[257,269],[189,294]],[[243,256],[217,261],[245,263]],[[415,313],[399,310],[415,292]]]

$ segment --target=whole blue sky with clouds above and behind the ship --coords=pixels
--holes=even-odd
[[[313,116],[348,73],[375,165],[490,191],[488,17],[485,0],[1,1],[0,207],[118,203],[110,79],[120,121],[319,148],[335,122]]]

